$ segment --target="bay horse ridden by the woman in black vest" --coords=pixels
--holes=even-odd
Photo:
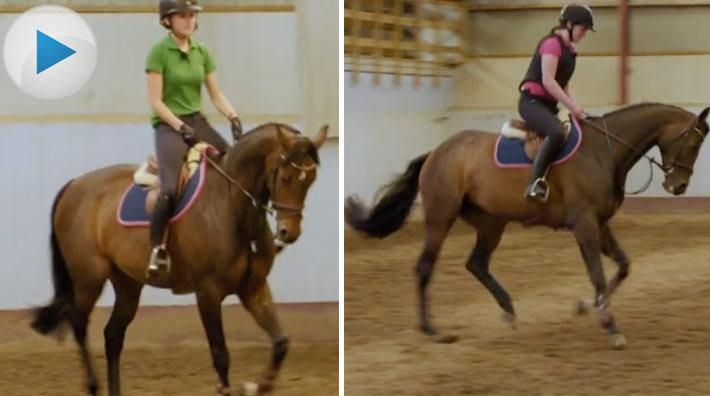
[[[466,269],[493,295],[511,325],[515,310],[510,296],[489,272],[491,255],[506,224],[514,221],[571,230],[594,286],[591,305],[607,329],[611,346],[623,348],[626,339],[614,320],[610,302],[628,275],[630,260],[614,237],[609,219],[624,200],[629,170],[654,146],[661,152],[662,164],[656,165],[664,171],[665,190],[674,195],[685,192],[708,134],[708,111],[710,108],[705,108],[695,116],[675,106],[640,103],[585,120],[584,139],[575,156],[550,170],[547,203],[523,197],[530,169],[501,169],[494,164],[496,134],[462,131],[412,160],[403,174],[380,189],[373,207],[348,197],[345,220],[357,231],[384,238],[402,227],[421,191],[425,241],[416,264],[420,329],[439,342],[453,342],[456,337],[442,335],[432,326],[427,285],[442,243],[457,218],[478,233]],[[618,266],[608,284],[601,254]],[[582,302],[580,308],[585,308]]]

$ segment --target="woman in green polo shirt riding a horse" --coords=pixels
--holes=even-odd
[[[207,47],[191,38],[197,30],[195,0],[161,0],[160,24],[168,35],[148,54],[148,96],[153,110],[155,152],[160,165],[160,194],[150,223],[151,274],[170,271],[170,256],[165,249],[165,230],[178,195],[180,167],[188,148],[203,140],[223,152],[228,144],[207,122],[202,109],[202,83],[207,86],[214,106],[229,119],[237,139],[242,125],[229,100],[222,94],[215,75],[215,61]]]

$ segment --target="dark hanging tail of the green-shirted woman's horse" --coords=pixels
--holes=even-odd
[[[52,214],[50,216],[50,226],[52,227],[52,235],[50,237],[50,246],[52,249],[52,281],[54,283],[54,299],[44,307],[35,309],[34,319],[32,320],[32,328],[40,334],[47,334],[57,330],[59,325],[67,318],[69,310],[74,303],[74,286],[67,270],[67,263],[64,261],[64,256],[59,250],[57,242],[57,234],[54,230],[54,213],[57,210],[57,204],[64,195],[64,191],[69,187],[71,181],[65,184],[52,204]]]

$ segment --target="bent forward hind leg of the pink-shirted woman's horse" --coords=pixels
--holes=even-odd
[[[488,289],[498,305],[505,311],[504,319],[512,327],[515,327],[515,309],[510,295],[488,270],[491,255],[500,243],[507,222],[484,213],[462,215],[462,217],[478,231],[476,246],[466,261],[466,269]]]

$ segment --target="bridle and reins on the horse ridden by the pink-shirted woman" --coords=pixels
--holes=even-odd
[[[668,143],[673,142],[673,141],[675,141],[675,140],[677,140],[677,139],[680,139],[680,138],[683,139],[683,141],[681,142],[681,145],[678,146],[678,149],[676,150],[675,155],[673,156],[673,160],[671,161],[670,165],[663,165],[662,163],[658,162],[655,158],[653,158],[653,157],[647,155],[647,154],[644,153],[644,152],[641,152],[641,150],[639,150],[639,149],[637,149],[636,147],[632,146],[631,144],[629,144],[628,142],[626,142],[624,139],[622,139],[622,138],[620,138],[620,137],[614,135],[613,133],[609,132],[609,129],[608,129],[607,126],[606,126],[606,121],[604,121],[603,119],[601,119],[601,122],[602,122],[603,127],[602,127],[602,126],[599,126],[599,125],[597,125],[597,124],[595,124],[594,122],[592,122],[593,120],[596,120],[596,119],[601,119],[601,117],[588,116],[587,118],[583,119],[582,122],[584,122],[585,124],[591,126],[594,130],[599,131],[599,132],[603,133],[603,134],[606,136],[607,142],[608,142],[608,146],[609,146],[609,151],[611,151],[611,149],[612,149],[612,147],[611,147],[611,140],[613,139],[613,140],[615,140],[616,142],[620,143],[621,145],[623,145],[623,146],[625,146],[625,147],[627,147],[627,148],[633,150],[635,153],[641,154],[644,158],[646,158],[646,159],[648,160],[648,167],[649,167],[649,170],[650,170],[648,180],[647,180],[646,183],[645,183],[643,186],[641,186],[641,188],[639,188],[638,190],[632,191],[632,192],[626,192],[626,191],[625,191],[626,194],[630,194],[630,195],[640,194],[640,193],[642,193],[642,192],[644,192],[644,191],[646,191],[646,190],[648,189],[648,187],[651,185],[651,181],[653,180],[653,166],[652,166],[652,165],[656,165],[656,166],[658,167],[658,169],[660,169],[660,170],[663,172],[663,174],[666,175],[666,176],[669,175],[670,173],[672,173],[673,171],[675,171],[676,168],[686,169],[686,170],[688,170],[691,174],[693,173],[693,167],[692,167],[691,165],[684,164],[684,163],[678,161],[678,157],[680,156],[680,153],[681,153],[682,149],[685,148],[686,141],[687,141],[687,139],[688,139],[688,136],[690,136],[690,133],[691,133],[691,132],[697,133],[697,134],[700,135],[701,139],[705,139],[705,134],[703,133],[702,130],[700,130],[700,128],[698,128],[698,126],[697,126],[696,123],[695,123],[695,120],[693,120],[693,122],[691,123],[691,125],[689,125],[687,128],[685,128],[682,133],[679,133],[678,135],[676,135],[676,136],[673,137],[672,139],[667,140],[667,141],[665,141],[665,142],[663,142],[663,143],[660,143],[660,142],[658,143],[658,146],[661,147],[662,145],[668,144]],[[661,147],[661,148],[662,148],[662,147]]]

